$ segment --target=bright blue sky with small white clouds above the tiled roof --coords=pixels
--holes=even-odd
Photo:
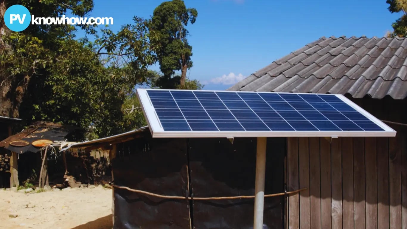
[[[93,17],[112,17],[113,31],[148,18],[162,0],[95,0]],[[190,79],[207,90],[224,90],[322,36],[383,37],[400,14],[391,14],[385,0],[185,0],[196,8],[188,26],[194,66]],[[152,69],[159,70],[158,66]]]

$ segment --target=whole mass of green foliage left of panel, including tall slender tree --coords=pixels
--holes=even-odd
[[[38,17],[60,17],[67,12],[83,17],[93,9],[92,0],[3,0],[1,22],[5,8],[17,2]],[[195,22],[197,13],[180,0],[173,2],[156,9],[167,20],[162,28],[152,19],[138,17],[118,32],[109,27],[98,31],[92,26],[31,25],[15,33],[0,24],[0,115],[20,117],[25,124],[41,120],[78,126],[85,130],[81,137],[87,139],[145,126],[135,87],[203,87],[188,79],[181,87],[182,76],[174,76],[182,63],[192,66],[192,47],[184,26]],[[78,29],[95,39],[77,39]],[[182,39],[171,41],[174,36]],[[165,55],[177,55],[177,61]],[[157,61],[163,65],[163,75],[148,69]]]

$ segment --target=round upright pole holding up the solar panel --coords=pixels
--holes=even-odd
[[[253,229],[263,229],[264,183],[266,176],[266,146],[267,138],[257,138],[256,152],[256,185],[254,197]]]

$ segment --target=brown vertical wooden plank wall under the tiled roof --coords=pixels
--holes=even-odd
[[[288,228],[407,229],[403,128],[393,139],[288,138],[289,191],[308,188],[289,196]]]

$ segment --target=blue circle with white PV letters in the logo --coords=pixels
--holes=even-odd
[[[31,22],[31,13],[22,5],[13,5],[4,13],[4,24],[12,31],[27,29]]]

